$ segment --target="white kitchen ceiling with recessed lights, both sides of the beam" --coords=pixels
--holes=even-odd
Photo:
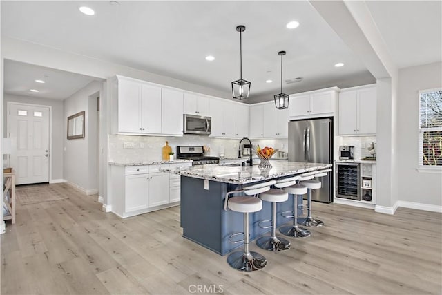
[[[441,61],[440,2],[405,2],[367,1],[394,60],[399,67]],[[95,15],[81,14],[80,5]],[[289,30],[292,20],[300,26]],[[247,27],[242,77],[251,82],[249,103],[280,92],[280,50],[287,51],[284,79],[303,78],[284,84],[285,93],[376,82],[308,1],[1,1],[2,35],[182,79],[227,97],[240,76],[239,24]],[[434,41],[431,49],[416,51],[422,35]],[[338,62],[345,66],[334,67]]]

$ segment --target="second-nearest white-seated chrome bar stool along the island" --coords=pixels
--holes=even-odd
[[[269,251],[282,251],[290,248],[290,242],[285,238],[276,236],[276,203],[285,202],[289,198],[289,193],[284,191],[283,187],[290,187],[296,184],[296,180],[299,177],[284,178],[278,180],[274,187],[277,189],[270,189],[264,193],[260,193],[260,199],[266,202],[271,202],[271,220],[262,220],[258,223],[262,229],[268,229],[271,227],[271,236],[262,236],[256,240],[258,247]],[[262,227],[262,222],[271,222],[269,227]]]

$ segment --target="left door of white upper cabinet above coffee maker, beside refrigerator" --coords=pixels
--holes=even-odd
[[[339,93],[339,134],[356,133],[357,91]]]

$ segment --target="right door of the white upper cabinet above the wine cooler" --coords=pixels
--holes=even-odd
[[[358,91],[358,133],[376,134],[376,88]]]

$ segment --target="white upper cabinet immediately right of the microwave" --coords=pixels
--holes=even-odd
[[[236,104],[226,99],[211,99],[212,137],[236,137]]]

